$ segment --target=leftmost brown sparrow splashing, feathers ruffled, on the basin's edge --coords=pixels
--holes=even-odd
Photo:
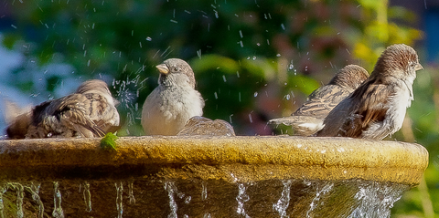
[[[102,137],[119,125],[117,103],[105,82],[88,80],[75,93],[18,115],[6,134],[10,139]]]

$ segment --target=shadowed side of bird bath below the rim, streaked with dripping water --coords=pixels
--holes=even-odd
[[[4,182],[0,217],[390,217],[408,188],[359,180]]]

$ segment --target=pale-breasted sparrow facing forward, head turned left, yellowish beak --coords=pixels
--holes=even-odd
[[[186,61],[170,58],[156,67],[158,87],[145,99],[142,126],[145,135],[177,135],[188,119],[203,115],[204,100]]]

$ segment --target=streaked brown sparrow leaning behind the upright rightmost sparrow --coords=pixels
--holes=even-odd
[[[310,136],[323,128],[323,120],[327,114],[368,77],[369,73],[363,67],[358,65],[343,67],[327,85],[313,91],[304,105],[295,110],[291,116],[271,119],[269,124],[292,126],[294,134]]]

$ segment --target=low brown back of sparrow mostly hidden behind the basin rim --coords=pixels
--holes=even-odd
[[[235,136],[235,130],[229,122],[222,119],[207,119],[200,116],[187,120],[183,130],[177,136]]]

